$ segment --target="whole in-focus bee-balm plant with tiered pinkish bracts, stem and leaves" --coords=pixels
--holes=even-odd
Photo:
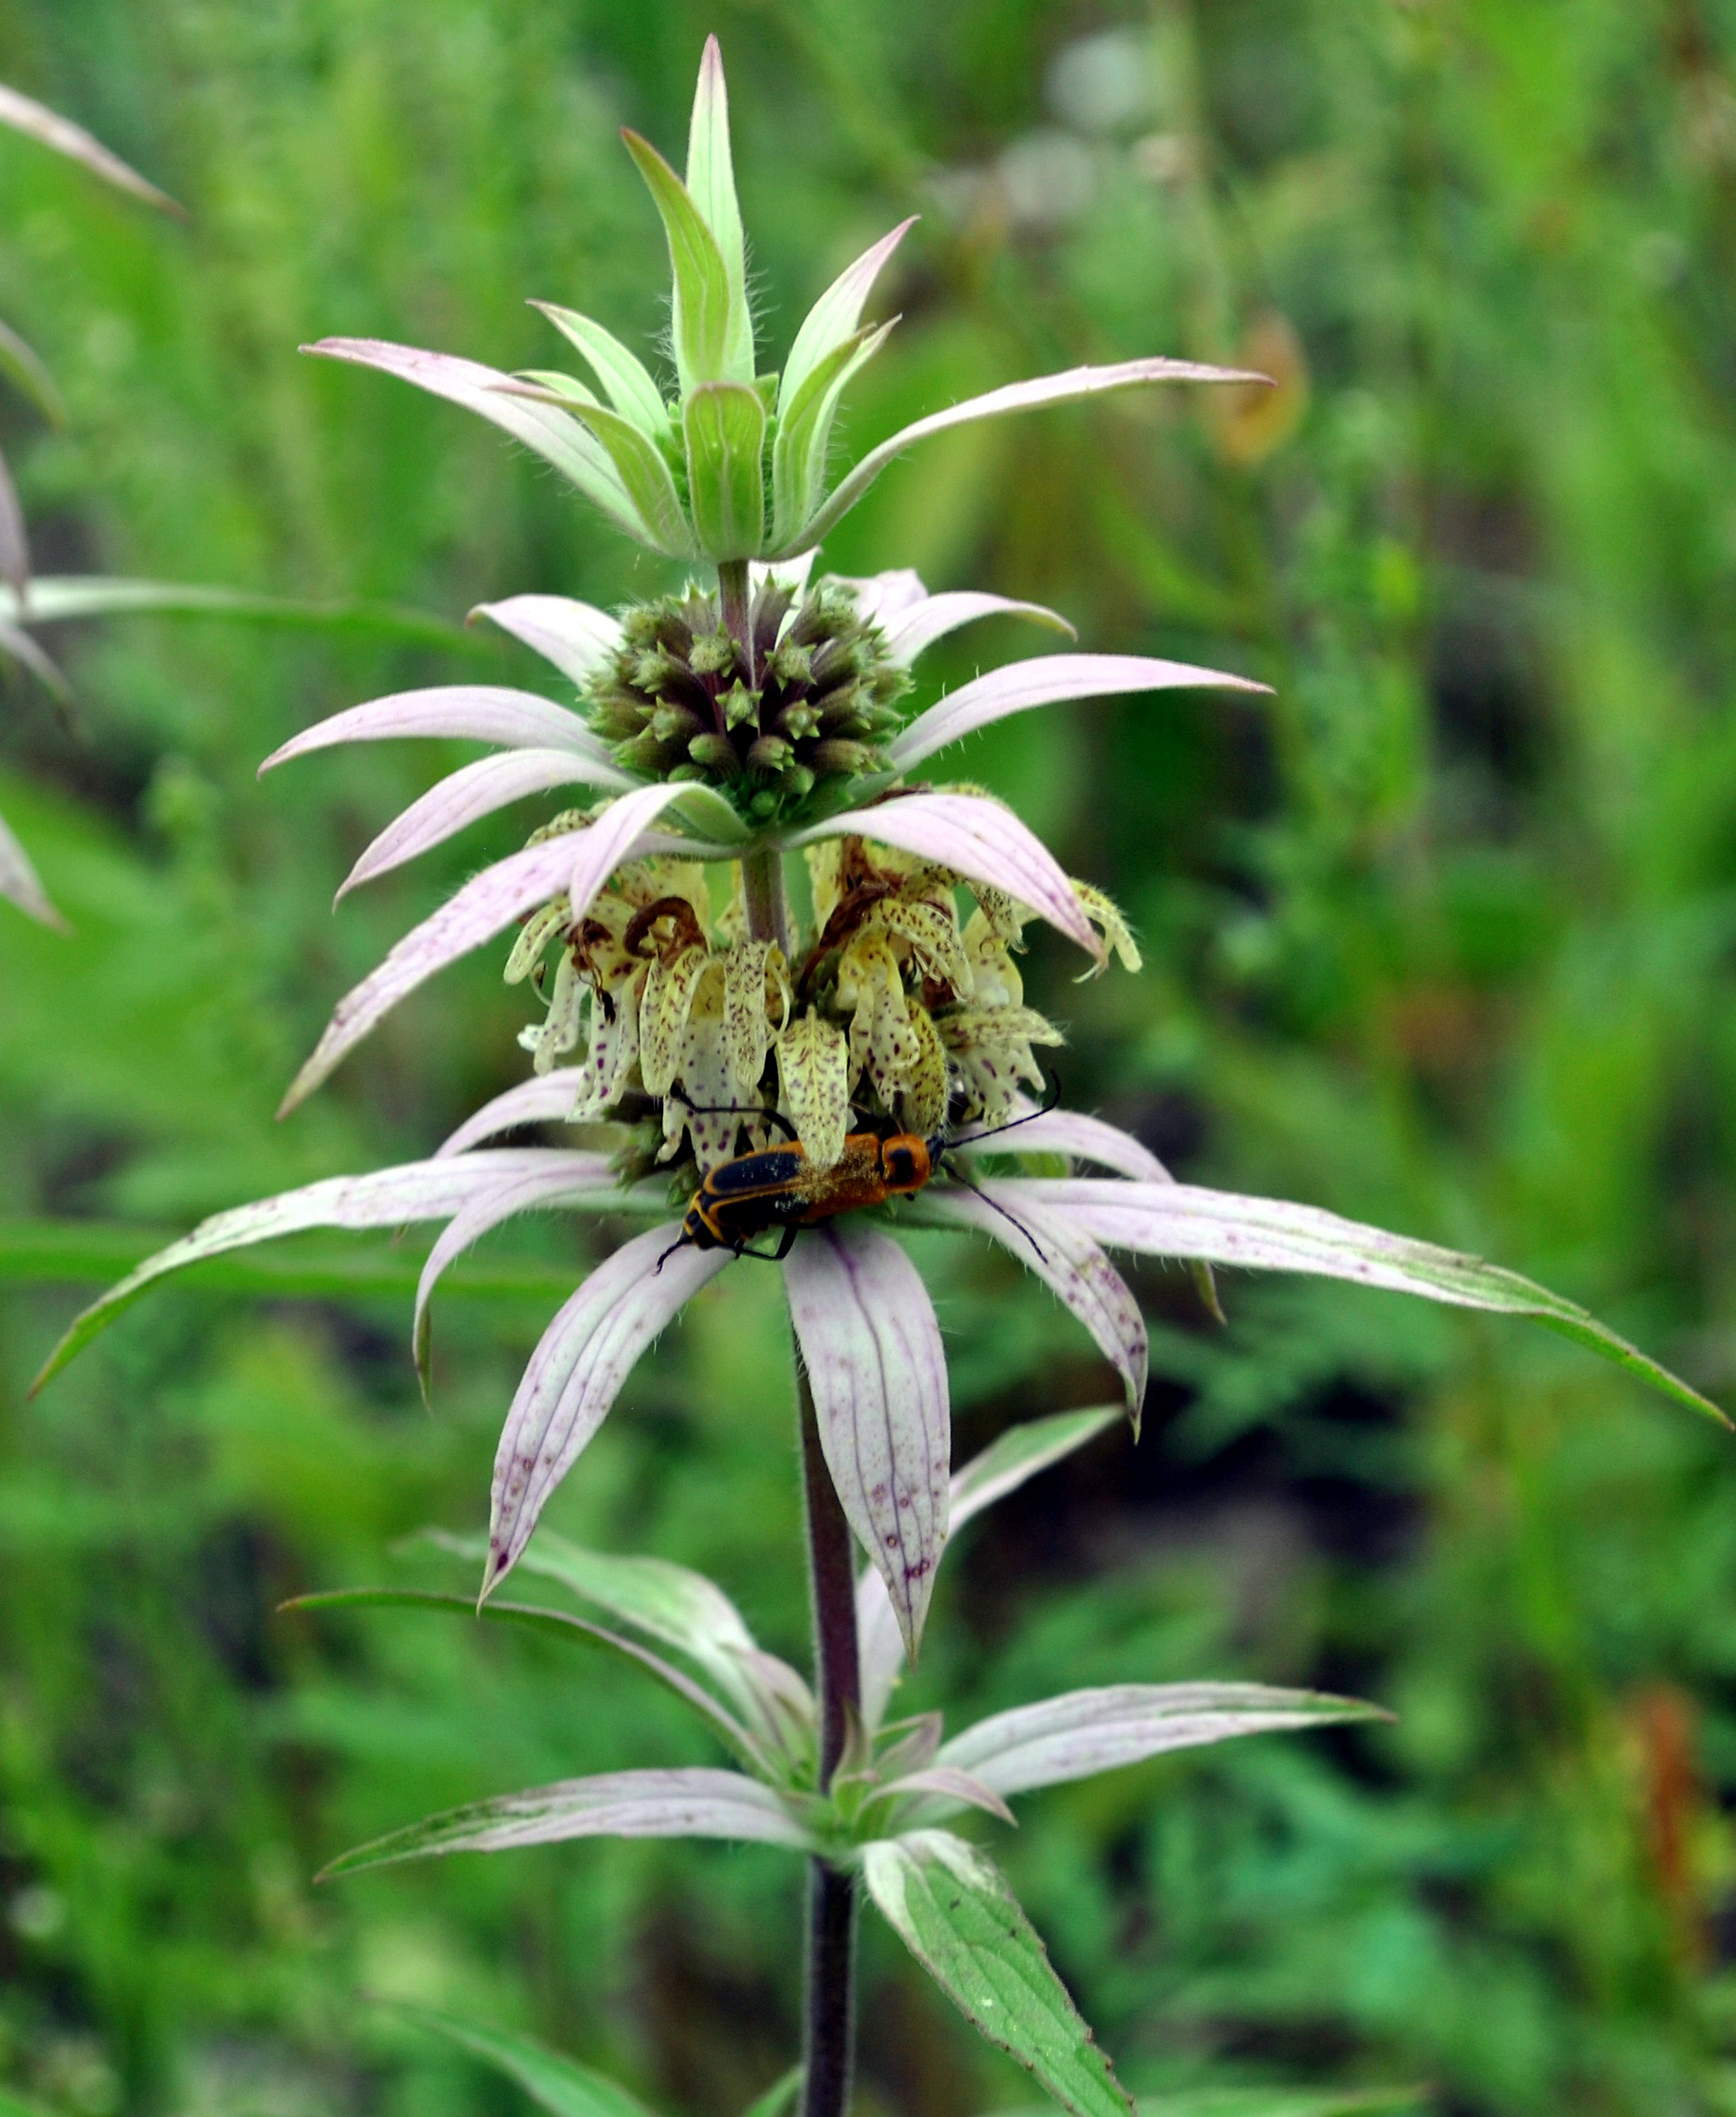
[[[1061,631],[1065,620],[1003,597],[929,595],[908,572],[815,578],[813,555],[893,455],[942,428],[1107,390],[1258,377],[1175,360],[1073,368],[917,421],[828,483],[840,394],[891,328],[864,326],[862,311],[904,229],[821,294],[781,375],[758,375],[716,42],[686,180],[644,140],[627,144],[669,241],[673,400],[627,347],[565,309],[548,315],[595,390],[565,373],[512,377],[375,341],[315,351],[481,413],[697,578],[620,614],[550,595],[483,605],[572,686],[572,705],[500,686],[402,692],[267,760],[381,737],[468,737],[495,752],[413,802],[345,889],[506,802],[589,790],[589,807],[553,815],[476,874],[339,1003],[286,1109],[402,997],[514,925],[506,978],[542,997],[523,1035],[531,1075],[428,1160],[205,1222],[87,1310],[44,1374],[182,1264],[299,1228],[413,1219],[445,1222],[415,1304],[426,1372],[438,1279],[489,1228],[548,1207],[644,1217],[525,1368],[495,1454],[487,1539],[440,1541],[481,1562],[485,1615],[629,1655],[701,1715],[735,1768],[614,1772],[485,1799],[328,1871],[603,1833],[783,1846],[813,1876],[809,2117],[832,2117],[849,2098],[857,1880],[991,2041],[1063,2106],[1107,2117],[1126,2109],[1107,2058],[987,1852],[951,1825],[970,1810],[1012,1821],[1014,1793],[1167,1749],[1372,1711],[1190,1683],[1071,1691],[951,1740],[938,1715],[887,1721],[948,1533],[1122,1410],[1137,1431],[1145,1325],[1109,1251],[1183,1260],[1213,1302],[1213,1266],[1251,1266],[1529,1315],[1715,1408],[1512,1272],[1313,1207],[1175,1183],[1126,1133],[1031,1101],[1046,1086],[1035,1054],[1061,1031],[1025,1003],[1027,927],[1046,923],[1080,946],[1088,974],[1111,959],[1137,972],[1137,944],[1116,906],[1065,874],[1006,804],[917,771],[972,730],[1048,703],[1260,686],[1145,656],[1050,652],[991,669],[910,718],[908,671],[944,633],[989,614]],[[584,1124],[601,1143],[493,1143],[529,1124]],[[1122,1404],[1014,1429],[953,1473],[944,1349],[900,1226],[972,1230],[1012,1249],[1092,1336]],[[800,1353],[815,1685],[760,1649],[699,1575],[538,1531],[639,1353],[766,1243]],[[868,1558],[860,1577],[853,1545]],[[514,1569],[610,1622],[504,1600]],[[307,1600],[470,1607],[396,1590]]]

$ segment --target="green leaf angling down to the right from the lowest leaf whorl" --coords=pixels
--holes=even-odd
[[[862,1852],[868,1893],[946,1998],[1073,2117],[1133,2104],[991,1859],[948,1831]]]

